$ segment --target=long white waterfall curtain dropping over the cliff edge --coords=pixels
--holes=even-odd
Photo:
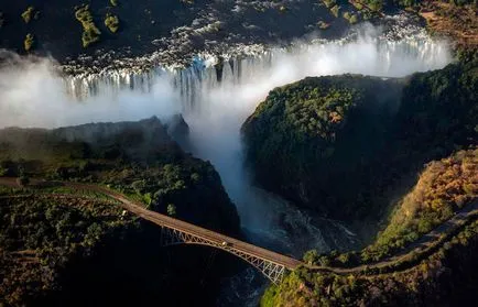
[[[350,63],[340,67],[341,56]],[[283,63],[293,63],[294,81],[306,76],[340,73],[402,77],[415,72],[441,68],[449,62],[445,44],[428,37],[412,36],[400,41],[387,37],[359,37],[333,42],[314,41],[287,48],[272,48],[259,55],[197,55],[184,69],[157,66],[145,70],[107,69],[98,74],[65,76],[67,92],[77,99],[122,90],[150,92],[161,77],[167,77],[182,97],[183,111],[197,111],[204,95],[224,85],[240,86],[258,76],[271,75]],[[335,66],[335,67],[334,67]],[[280,86],[274,84],[273,86]]]

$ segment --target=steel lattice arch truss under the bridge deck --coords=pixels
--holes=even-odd
[[[267,278],[269,278],[272,283],[276,285],[282,282],[285,275],[284,265],[245,253],[236,249],[231,244],[222,244],[222,242],[207,240],[205,238],[196,237],[194,234],[189,234],[181,230],[172,229],[164,226],[161,227],[161,245],[171,246],[171,245],[178,245],[178,244],[199,244],[199,245],[207,245],[207,246],[213,246],[216,249],[224,250],[250,263],[252,266],[258,268],[263,275],[265,275]]]

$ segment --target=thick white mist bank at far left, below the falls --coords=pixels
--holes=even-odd
[[[57,128],[87,122],[169,118],[181,111],[180,96],[159,78],[149,94],[70,97],[52,59],[11,62],[0,69],[0,128]]]

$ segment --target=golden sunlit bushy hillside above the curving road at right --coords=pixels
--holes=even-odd
[[[460,151],[431,162],[377,241],[362,252],[362,260],[392,255],[477,199],[478,150]]]

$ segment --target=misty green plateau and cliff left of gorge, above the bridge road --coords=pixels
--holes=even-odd
[[[108,185],[161,213],[238,233],[213,165],[184,153],[157,118],[52,131],[0,131],[0,174]],[[170,212],[171,213],[171,212]]]

